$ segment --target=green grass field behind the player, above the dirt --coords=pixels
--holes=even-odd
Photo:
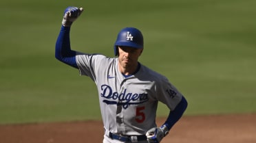
[[[254,0],[3,0],[0,124],[100,120],[94,82],[54,57],[69,5],[85,9],[72,26],[76,51],[113,56],[120,29],[141,29],[140,62],[186,96],[185,115],[256,112]]]

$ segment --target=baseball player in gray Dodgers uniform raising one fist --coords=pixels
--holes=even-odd
[[[160,142],[186,110],[186,99],[166,77],[138,62],[143,36],[134,27],[118,33],[116,57],[73,51],[70,27],[82,12],[83,8],[65,9],[55,57],[96,83],[105,129],[103,143]],[[156,125],[158,101],[170,109],[160,127]]]

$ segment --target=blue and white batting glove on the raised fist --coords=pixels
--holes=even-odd
[[[74,21],[76,21],[78,16],[81,15],[82,12],[83,12],[83,8],[76,8],[76,7],[73,7],[73,6],[72,7],[67,7],[65,12],[64,12],[62,25],[65,26],[65,27],[70,27],[72,25],[72,23]]]

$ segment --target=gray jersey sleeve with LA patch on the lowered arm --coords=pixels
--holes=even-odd
[[[166,77],[162,77],[157,85],[157,99],[169,107],[170,110],[174,110],[175,107],[182,100],[182,94],[173,86]]]

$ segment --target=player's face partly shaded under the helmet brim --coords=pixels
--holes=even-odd
[[[124,68],[134,68],[138,64],[138,57],[140,57],[143,49],[136,49],[131,47],[118,47],[118,60]]]

